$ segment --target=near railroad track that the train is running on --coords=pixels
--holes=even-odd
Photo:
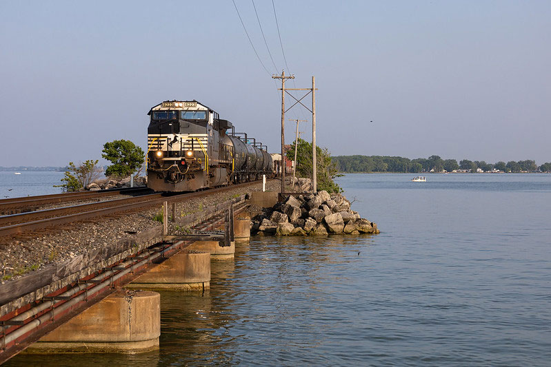
[[[151,193],[132,198],[106,200],[102,202],[74,205],[72,207],[61,207],[41,211],[32,211],[29,213],[12,214],[10,216],[0,216],[0,236],[18,235],[29,231],[35,231],[37,229],[90,220],[91,218],[108,216],[114,213],[145,210],[150,207],[162,205],[163,202],[166,201],[178,202],[190,198],[197,198],[199,196],[207,196],[212,193],[228,191],[238,187],[247,187],[257,183],[257,181],[246,182],[240,185],[230,185],[226,187],[208,189],[206,191],[181,193],[177,195]]]

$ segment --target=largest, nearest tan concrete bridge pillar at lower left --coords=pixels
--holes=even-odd
[[[119,290],[52,333],[26,353],[141,353],[159,348],[161,296]]]

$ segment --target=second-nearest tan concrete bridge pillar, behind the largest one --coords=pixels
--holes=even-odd
[[[210,288],[210,253],[181,250],[137,277],[130,289],[203,291]]]

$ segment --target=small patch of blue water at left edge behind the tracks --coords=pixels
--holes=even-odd
[[[60,187],[53,186],[60,185],[64,175],[55,171],[21,171],[20,175],[0,171],[0,199],[61,193]]]

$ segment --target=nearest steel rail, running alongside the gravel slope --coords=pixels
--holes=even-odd
[[[6,227],[0,227],[0,236],[13,235],[13,234],[18,234],[18,233],[23,233],[23,232],[26,232],[26,231],[32,231],[32,230],[35,230],[35,229],[51,227],[51,226],[54,226],[54,225],[66,224],[66,223],[70,223],[70,222],[78,222],[78,221],[81,221],[81,220],[87,220],[87,219],[98,217],[98,216],[107,216],[107,215],[110,215],[110,214],[113,214],[113,213],[119,213],[119,212],[122,212],[122,211],[128,211],[128,210],[132,210],[132,209],[138,209],[138,208],[146,209],[146,208],[152,207],[154,205],[161,205],[163,202],[166,202],[166,201],[175,202],[175,201],[180,201],[180,200],[184,200],[184,199],[188,199],[188,198],[197,198],[199,196],[207,196],[207,195],[210,195],[212,193],[228,191],[230,189],[234,189],[234,188],[238,188],[238,187],[247,187],[247,186],[250,186],[250,185],[257,184],[257,183],[258,182],[256,182],[256,181],[246,182],[246,183],[239,184],[239,185],[218,187],[218,188],[215,188],[215,189],[208,189],[208,190],[205,190],[205,191],[197,191],[197,192],[192,192],[192,193],[182,193],[182,194],[174,195],[174,196],[164,196],[164,197],[161,197],[161,198],[153,198],[152,200],[146,200],[145,202],[143,201],[143,196],[141,196],[139,198],[131,198],[132,201],[136,201],[134,199],[141,199],[141,200],[139,200],[138,202],[132,202],[130,204],[126,203],[126,204],[121,204],[121,205],[117,205],[117,206],[114,206],[114,207],[107,207],[107,208],[101,208],[101,209],[92,209],[90,211],[81,211],[79,213],[73,213],[73,214],[68,214],[68,215],[64,215],[64,216],[58,216],[58,217],[55,217],[55,218],[47,218],[47,219],[41,219],[41,220],[33,220],[31,222],[11,224],[11,225],[8,225]],[[161,194],[159,193],[159,194],[152,194],[152,195],[157,196],[157,195],[161,195]],[[117,200],[129,200],[129,199],[117,199]],[[112,200],[112,201],[115,201],[115,200]],[[97,204],[97,203],[94,203],[94,204]],[[82,205],[82,206],[86,207],[87,205]],[[88,206],[88,208],[90,208],[90,206]]]

